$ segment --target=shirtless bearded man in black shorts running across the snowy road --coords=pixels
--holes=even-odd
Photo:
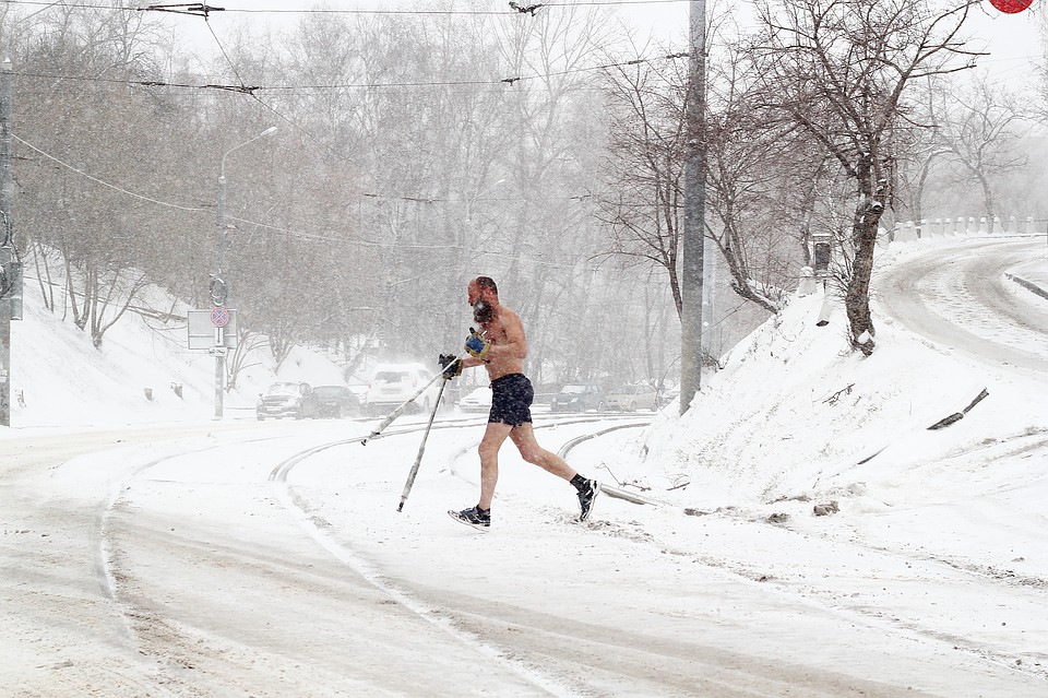
[[[532,400],[535,391],[524,375],[527,340],[520,316],[499,304],[499,289],[488,276],[477,276],[467,287],[474,319],[480,323],[483,336],[466,340],[464,367],[484,366],[491,380],[491,412],[480,441],[480,500],[462,511],[449,511],[457,521],[486,529],[491,525],[491,498],[499,480],[499,449],[507,437],[512,439],[521,458],[567,480],[579,493],[579,520],[585,521],[600,492],[595,480],[587,480],[572,470],[564,459],[547,451],[535,440],[532,427]]]

